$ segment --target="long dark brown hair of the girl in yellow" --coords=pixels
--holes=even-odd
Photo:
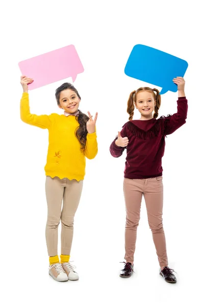
[[[77,91],[77,89],[75,89],[75,87],[70,83],[64,83],[60,87],[58,87],[55,91],[55,97],[56,97],[58,105],[60,105],[60,93],[61,93],[61,91],[65,90],[65,89],[73,90],[81,100],[81,96],[79,95],[79,92]],[[88,131],[86,129],[86,123],[89,120],[89,117],[86,114],[83,114],[79,110],[79,114],[76,116],[76,120],[78,120],[80,125],[75,130],[75,136],[78,138],[78,140],[81,144],[81,150],[84,152],[85,149],[86,149],[86,137],[87,137],[87,134],[88,134]]]

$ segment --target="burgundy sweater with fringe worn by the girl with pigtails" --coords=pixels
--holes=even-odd
[[[148,179],[162,176],[162,157],[165,148],[165,136],[172,134],[186,123],[186,97],[177,100],[177,113],[162,116],[159,119],[131,120],[122,126],[121,136],[129,139],[126,147],[115,144],[110,146],[113,157],[119,157],[126,148],[124,177],[127,179]]]

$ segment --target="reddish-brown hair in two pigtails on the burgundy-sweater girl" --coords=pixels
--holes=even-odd
[[[127,101],[127,113],[130,115],[129,116],[129,120],[133,120],[133,115],[134,115],[134,109],[135,109],[135,105],[136,105],[136,99],[137,99],[137,94],[138,92],[141,91],[148,91],[151,92],[154,99],[156,100],[156,106],[155,106],[155,112],[153,117],[156,119],[159,115],[159,108],[161,106],[161,95],[158,89],[154,88],[151,89],[149,87],[140,87],[137,90],[134,90],[131,92],[130,97]],[[156,91],[156,93],[155,93]]]

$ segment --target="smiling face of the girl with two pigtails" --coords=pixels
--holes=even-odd
[[[140,91],[137,93],[135,107],[141,114],[140,120],[147,120],[153,118],[156,101],[154,95],[148,91]]]

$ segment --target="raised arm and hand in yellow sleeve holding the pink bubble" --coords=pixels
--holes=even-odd
[[[20,84],[23,88],[20,100],[20,119],[25,123],[41,127],[41,129],[48,129],[52,124],[48,115],[38,116],[30,113],[28,84],[32,82],[33,79],[27,78],[25,75],[20,78]]]

